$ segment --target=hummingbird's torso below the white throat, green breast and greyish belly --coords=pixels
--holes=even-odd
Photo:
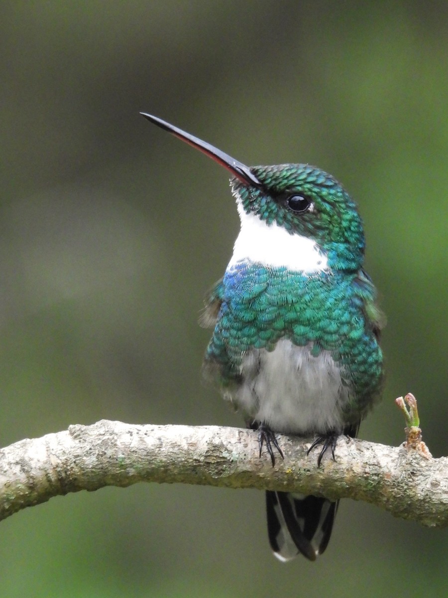
[[[241,262],[226,271],[219,288],[222,303],[205,369],[246,416],[278,432],[325,434],[366,413],[381,385],[382,353],[378,321],[367,316],[375,289],[362,273],[307,275]],[[261,385],[263,392],[257,392]],[[321,426],[318,419],[300,425],[307,420],[303,402],[319,413],[329,401],[323,392],[329,385],[337,403],[335,425]],[[259,418],[262,401],[292,401],[295,417],[285,417],[282,425],[281,413]],[[293,405],[285,411],[290,414]]]

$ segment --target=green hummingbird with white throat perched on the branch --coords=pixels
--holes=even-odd
[[[224,276],[201,318],[213,335],[204,373],[259,434],[275,465],[278,434],[313,437],[318,465],[337,438],[356,437],[381,393],[385,324],[363,269],[365,240],[355,202],[309,164],[248,167],[161,118],[143,117],[213,158],[232,175],[241,228]],[[274,555],[316,560],[339,501],[266,492]]]

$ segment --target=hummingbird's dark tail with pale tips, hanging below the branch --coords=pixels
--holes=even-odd
[[[338,503],[318,496],[268,490],[268,534],[275,556],[288,561],[301,553],[316,560],[327,548]]]

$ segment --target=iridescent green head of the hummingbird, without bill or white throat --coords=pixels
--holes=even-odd
[[[290,234],[315,240],[329,266],[358,270],[364,259],[363,225],[357,207],[333,176],[307,164],[251,167],[260,186],[231,179],[247,214],[277,224]]]

